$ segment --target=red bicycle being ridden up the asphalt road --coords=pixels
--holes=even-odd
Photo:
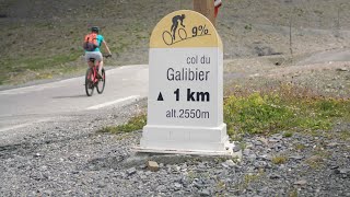
[[[104,56],[106,58],[110,56]],[[88,96],[92,96],[94,93],[94,89],[96,88],[97,93],[102,94],[105,90],[106,84],[106,71],[104,68],[102,68],[102,76],[98,78],[98,65],[95,65],[95,58],[90,58],[91,63],[93,63],[93,67],[88,68],[86,74],[85,74],[85,92]]]

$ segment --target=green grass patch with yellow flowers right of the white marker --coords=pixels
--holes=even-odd
[[[270,135],[287,130],[329,130],[337,118],[350,116],[350,101],[313,95],[296,86],[233,94],[224,102],[228,134],[238,140],[246,134]]]

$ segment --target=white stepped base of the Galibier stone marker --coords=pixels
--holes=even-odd
[[[147,125],[140,152],[231,155],[226,124],[220,127],[179,127]]]

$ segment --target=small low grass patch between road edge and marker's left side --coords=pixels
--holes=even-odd
[[[110,132],[110,134],[124,134],[131,132],[135,130],[140,130],[147,124],[147,115],[139,114],[132,118],[130,118],[126,124],[118,126],[108,126],[104,127],[100,130],[100,132]]]

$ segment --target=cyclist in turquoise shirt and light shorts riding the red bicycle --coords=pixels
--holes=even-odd
[[[85,50],[85,60],[88,61],[88,66],[93,67],[92,62],[90,61],[90,58],[94,58],[96,66],[98,66],[98,76],[102,77],[103,56],[100,50],[101,45],[103,44],[106,50],[108,51],[108,57],[112,57],[112,54],[103,35],[98,34],[98,32],[100,32],[98,26],[91,27],[91,34],[97,34],[96,36],[97,47],[93,51]]]

